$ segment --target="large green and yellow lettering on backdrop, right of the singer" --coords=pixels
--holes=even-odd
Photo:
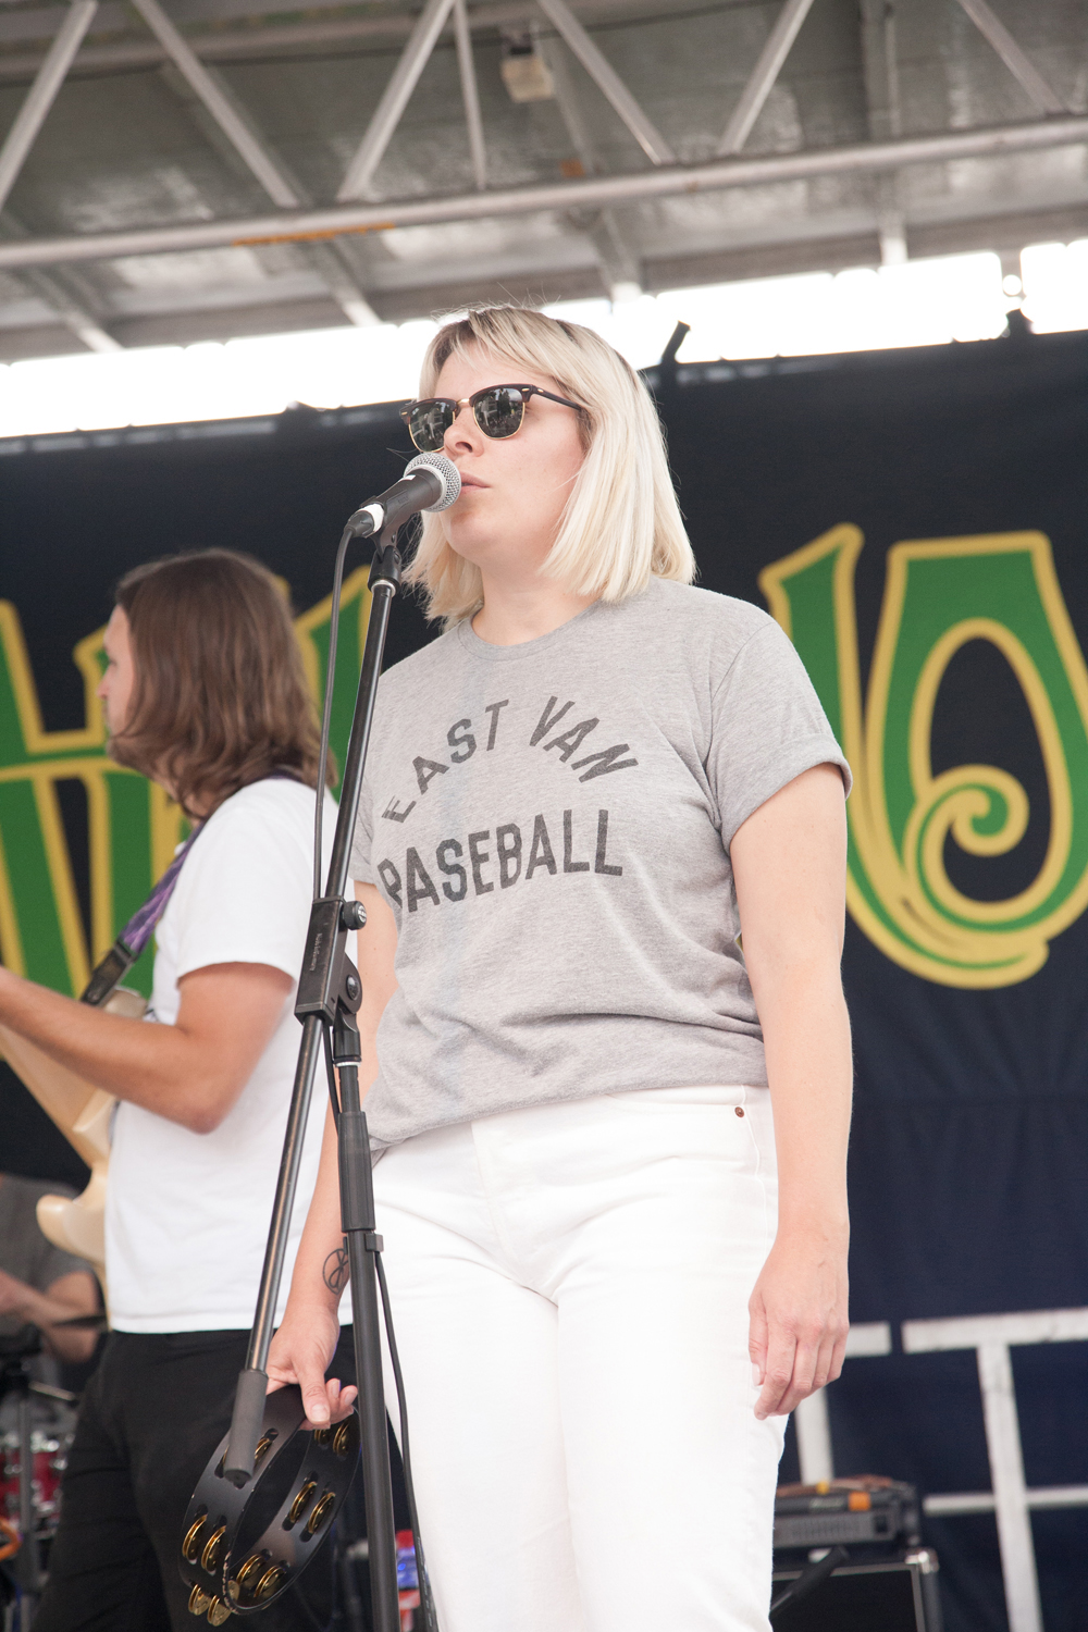
[[[855,774],[847,899],[896,963],[944,986],[1028,979],[1088,906],[1088,671],[1050,545],[1037,532],[927,539],[887,552],[884,605],[861,708],[853,573],[856,527],[835,527],[760,574]],[[1039,739],[1050,831],[1033,883],[975,901],[948,876],[948,837],[975,857],[1010,852],[1028,795],[997,765],[933,774],[941,677],[971,640],[1016,676]]]

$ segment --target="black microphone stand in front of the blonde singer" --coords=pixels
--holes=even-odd
[[[365,912],[360,902],[346,901],[351,844],[367,762],[370,726],[382,653],[390,619],[390,604],[400,588],[401,558],[396,550],[396,527],[387,527],[370,566],[370,622],[359,676],[356,713],[351,723],[347,761],[341,783],[336,836],[325,896],[313,902],[307,950],[295,1013],[302,1020],[302,1044],[295,1067],[295,1084],[287,1113],[284,1154],[276,1183],[272,1222],[261,1271],[256,1317],[250,1333],[245,1371],[238,1376],[235,1412],[223,1475],[241,1488],[253,1477],[256,1444],[264,1417],[268,1392],[268,1351],[272,1342],[276,1299],[284,1271],[290,1213],[299,1183],[302,1141],[310,1110],[310,1093],[318,1053],[331,1038],[331,1058],[339,1071],[341,1106],[336,1118],[339,1139],[341,1224],[347,1237],[351,1266],[351,1301],[356,1338],[356,1371],[359,1382],[359,1426],[362,1436],[362,1477],[367,1510],[367,1546],[370,1559],[370,1599],[374,1632],[400,1632],[400,1598],[396,1590],[396,1534],[393,1526],[393,1490],[390,1483],[388,1438],[385,1426],[385,1389],[382,1382],[382,1330],[378,1317],[378,1283],[375,1255],[382,1237],[375,1234],[374,1183],[370,1177],[370,1138],[359,1100],[359,1028],[356,1012],[362,1002],[359,973],[347,958],[346,942],[352,929],[362,929]],[[321,798],[323,788],[316,790]]]

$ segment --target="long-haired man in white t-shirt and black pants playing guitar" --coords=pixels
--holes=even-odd
[[[230,1421],[290,1098],[318,733],[289,609],[246,557],[207,550],[129,573],[104,645],[109,752],[178,800],[197,837],[158,922],[144,1022],[0,969],[0,1023],[121,1102],[106,1203],[113,1330],[83,1399],[34,1625],[179,1632],[192,1625],[181,1519]],[[329,836],[333,824],[329,813]],[[320,1124],[320,1100],[313,1115]],[[318,1144],[315,1129],[292,1260]],[[269,1611],[269,1627],[325,1624],[328,1588],[326,1572],[308,1572],[305,1599]]]

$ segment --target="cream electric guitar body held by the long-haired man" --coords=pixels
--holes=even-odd
[[[103,1007],[109,1013],[139,1020],[147,1009],[147,999],[127,986],[119,986]],[[117,1102],[113,1093],[91,1087],[67,1066],[59,1066],[34,1043],[28,1043],[3,1025],[0,1025],[0,1053],[91,1170],[83,1195],[42,1196],[38,1203],[38,1224],[54,1247],[72,1252],[77,1258],[86,1258],[104,1289],[109,1121]]]

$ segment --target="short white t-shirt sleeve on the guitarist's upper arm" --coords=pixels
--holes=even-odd
[[[178,880],[175,979],[214,963],[264,963],[297,979],[310,870],[299,834],[274,814],[266,811],[258,823],[223,806],[219,821],[197,837]]]

